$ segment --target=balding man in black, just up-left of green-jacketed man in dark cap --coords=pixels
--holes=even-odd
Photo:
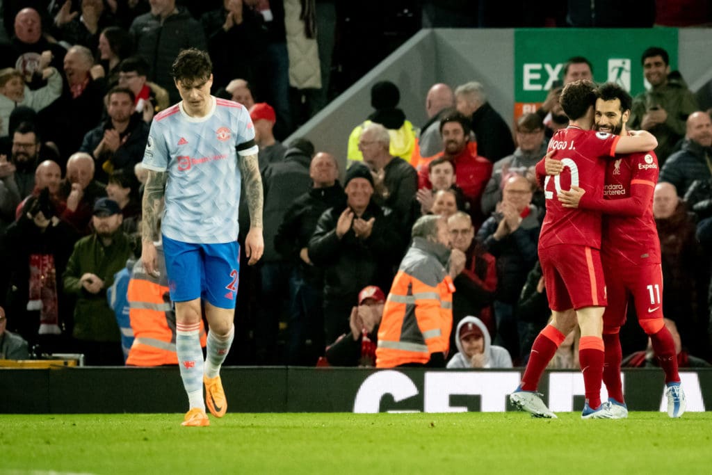
[[[85,152],[76,152],[67,161],[67,176],[61,184],[61,197],[66,201],[62,219],[80,234],[89,234],[94,202],[106,197],[106,186],[94,179],[94,159]]]

